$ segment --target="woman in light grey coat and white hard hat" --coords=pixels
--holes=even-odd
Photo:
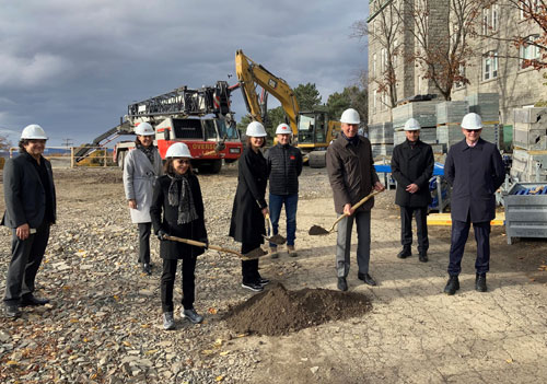
[[[130,150],[124,162],[124,189],[131,214],[131,221],[139,229],[139,264],[142,271],[152,275],[150,263],[150,203],[155,179],[163,175],[162,158],[154,146],[154,128],[141,123],[135,128],[136,148]]]

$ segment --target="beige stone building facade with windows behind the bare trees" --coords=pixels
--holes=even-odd
[[[418,0],[422,1],[422,0]],[[408,62],[405,57],[417,49],[415,37],[409,32],[414,20],[405,16],[403,7],[408,2],[401,0],[371,0],[369,28],[369,124],[391,121],[391,103],[388,92],[383,88],[383,75],[393,62],[395,74],[396,101],[418,94],[440,92],[430,80],[423,79],[423,70],[416,63]],[[445,42],[449,32],[449,1],[431,1],[428,31],[431,40]],[[398,8],[399,12],[395,12]],[[477,21],[479,34],[489,37],[473,37],[474,57],[466,62],[463,71],[469,84],[455,84],[452,100],[465,100],[475,93],[498,93],[500,95],[499,120],[501,124],[513,123],[512,109],[531,106],[539,101],[547,101],[547,79],[545,71],[524,68],[523,59],[539,58],[534,46],[515,47],[505,39],[513,36],[527,37],[533,40],[539,36],[538,27],[524,21],[522,13],[500,0],[496,4],[482,9]],[[405,20],[408,18],[408,20]],[[386,25],[397,25],[397,31],[388,38],[381,30]],[[389,31],[389,30],[387,30]],[[391,47],[391,49],[388,48]],[[392,54],[388,56],[388,53]],[[393,60],[389,60],[389,57]],[[385,83],[385,81],[384,81]],[[442,97],[439,95],[439,97]]]

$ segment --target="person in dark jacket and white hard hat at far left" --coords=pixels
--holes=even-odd
[[[43,156],[46,141],[40,126],[26,126],[19,141],[20,154],[8,160],[3,170],[5,212],[1,224],[12,229],[12,255],[3,298],[8,317],[19,317],[20,306],[49,302],[34,295],[36,274],[57,211],[51,163]]]

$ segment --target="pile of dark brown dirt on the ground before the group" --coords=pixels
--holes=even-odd
[[[229,309],[224,319],[238,334],[286,335],[330,321],[363,315],[370,299],[356,292],[327,289],[288,291],[283,284]]]

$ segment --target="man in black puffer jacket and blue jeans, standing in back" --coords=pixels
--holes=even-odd
[[[298,256],[294,248],[296,238],[296,209],[299,203],[299,176],[302,173],[302,153],[291,146],[292,129],[280,124],[276,129],[277,144],[266,152],[269,179],[269,209],[274,235],[279,232],[279,216],[284,205],[287,217],[287,252]],[[277,244],[270,243],[272,258],[279,257]]]

